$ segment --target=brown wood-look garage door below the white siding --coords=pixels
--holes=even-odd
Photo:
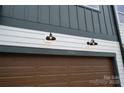
[[[113,75],[110,58],[0,55],[0,86],[115,86]]]

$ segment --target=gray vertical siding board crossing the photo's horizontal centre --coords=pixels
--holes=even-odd
[[[69,27],[69,15],[68,6],[60,6],[60,25],[63,27]]]

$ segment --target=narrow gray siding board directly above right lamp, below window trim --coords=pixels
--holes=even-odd
[[[85,9],[86,13],[86,25],[87,31],[93,32],[93,20],[92,20],[92,12],[89,9]]]

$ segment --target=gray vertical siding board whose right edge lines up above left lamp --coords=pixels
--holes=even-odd
[[[49,24],[49,6],[38,6],[38,22]]]

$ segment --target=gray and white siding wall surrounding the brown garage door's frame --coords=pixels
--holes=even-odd
[[[85,6],[2,6],[0,24],[0,45],[115,53],[124,86],[124,68],[111,6],[100,6],[99,10]],[[49,32],[57,40],[46,41]],[[86,44],[91,38],[97,46]]]

